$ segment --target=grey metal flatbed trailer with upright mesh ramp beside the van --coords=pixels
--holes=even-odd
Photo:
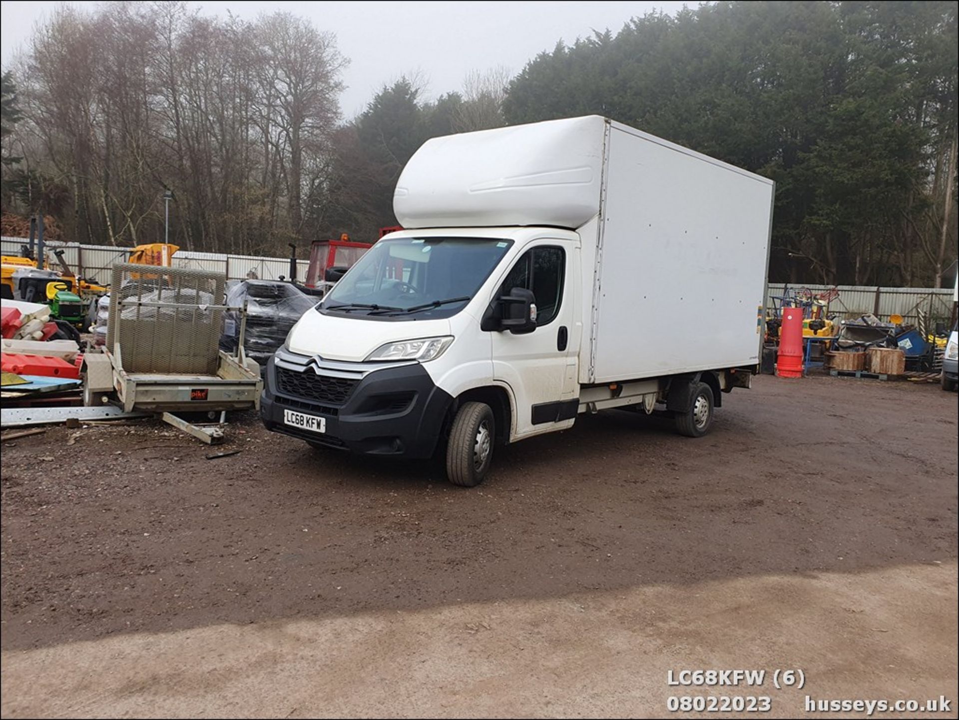
[[[259,365],[244,351],[246,307],[225,305],[225,286],[226,275],[211,270],[113,266],[105,350],[88,357],[88,374],[100,365],[103,377],[108,362],[110,390],[124,411],[152,412],[203,442],[221,442],[226,412],[259,409],[263,390]],[[226,313],[240,320],[234,353],[219,348]],[[94,388],[87,402],[97,399],[104,397]],[[220,412],[220,423],[175,414],[183,412]]]

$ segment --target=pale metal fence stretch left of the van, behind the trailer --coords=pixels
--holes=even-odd
[[[22,245],[29,244],[27,238],[9,238],[2,240],[4,255],[19,255]],[[131,247],[111,247],[109,245],[82,245],[77,243],[57,243],[45,241],[47,263],[49,267],[59,267],[53,251],[63,249],[63,260],[79,276],[102,285],[110,282],[112,268],[117,263],[129,261]],[[310,266],[309,259],[296,261],[296,276],[306,279]],[[177,250],[173,257],[173,267],[187,267],[222,272],[227,280],[243,280],[252,270],[261,280],[278,280],[280,275],[290,276],[289,258],[267,258],[255,255],[227,255],[217,252],[191,252]]]

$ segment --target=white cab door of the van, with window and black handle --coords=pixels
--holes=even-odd
[[[532,290],[536,328],[514,335],[492,332],[493,377],[512,390],[513,437],[563,430],[573,425],[578,407],[576,272],[578,245],[538,240],[526,247],[503,276],[496,297],[513,288]]]

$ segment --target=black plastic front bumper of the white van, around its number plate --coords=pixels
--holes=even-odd
[[[339,372],[322,361],[308,362],[299,370],[288,362],[278,367],[275,356],[269,360],[260,402],[267,430],[353,453],[411,458],[433,455],[453,398],[433,384],[420,363],[358,369],[352,378],[344,377],[350,371],[342,372],[347,363],[327,364],[338,365]],[[364,363],[355,364],[368,368]],[[278,383],[278,372],[283,373],[283,383]],[[330,380],[334,387],[327,398],[314,392],[311,383],[317,377]],[[323,417],[326,431],[285,425],[284,410]]]

